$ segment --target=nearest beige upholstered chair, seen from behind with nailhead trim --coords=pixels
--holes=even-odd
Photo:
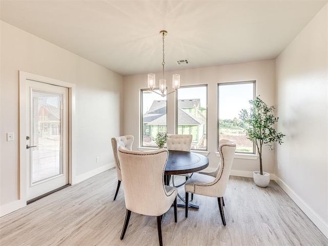
[[[120,239],[128,228],[131,212],[157,216],[159,245],[162,245],[161,219],[174,204],[174,221],[177,221],[177,189],[164,184],[168,150],[130,151],[118,148],[126,204],[126,216]]]

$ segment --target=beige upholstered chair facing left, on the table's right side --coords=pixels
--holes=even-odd
[[[217,197],[222,223],[226,226],[226,219],[224,218],[223,212],[223,195],[228,185],[235,151],[236,144],[234,142],[229,140],[220,142],[218,152],[220,153],[221,163],[218,169],[213,171],[210,175],[194,173],[194,175],[186,181],[186,218],[188,217],[189,193]]]

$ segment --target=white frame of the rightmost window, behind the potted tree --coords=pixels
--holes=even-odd
[[[217,133],[216,133],[216,142],[217,142],[217,147],[216,149],[219,148],[219,135],[220,135],[220,122],[219,122],[219,116],[220,116],[220,106],[219,106],[219,87],[220,85],[242,85],[242,84],[253,84],[253,98],[252,100],[254,100],[256,98],[256,92],[257,92],[257,80],[256,79],[252,79],[252,80],[242,80],[242,81],[232,81],[232,82],[222,82],[222,83],[218,83],[217,84]],[[253,141],[253,152],[241,152],[241,151],[236,151],[235,155],[239,155],[239,156],[254,156],[257,155],[257,149],[256,149],[256,145],[255,142]]]

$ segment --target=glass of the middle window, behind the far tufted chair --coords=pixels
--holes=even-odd
[[[192,150],[207,150],[207,86],[180,87],[177,91],[177,134],[191,134]]]

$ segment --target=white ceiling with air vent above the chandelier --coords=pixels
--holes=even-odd
[[[276,58],[328,1],[1,0],[0,17],[121,75]],[[190,65],[178,66],[186,59]]]

